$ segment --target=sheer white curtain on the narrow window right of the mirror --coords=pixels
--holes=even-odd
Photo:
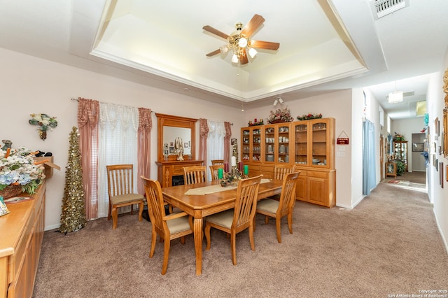
[[[224,137],[225,137],[225,125],[224,122],[215,122],[207,120],[209,125],[209,135],[207,136],[207,177],[211,180],[211,174],[209,173],[209,165],[211,165],[211,159],[224,159]]]

